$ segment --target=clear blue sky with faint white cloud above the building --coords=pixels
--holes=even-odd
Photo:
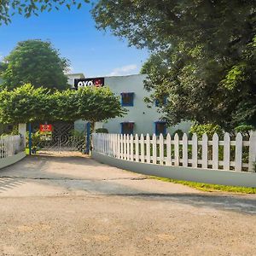
[[[148,58],[147,50],[129,48],[110,32],[96,30],[95,25],[86,4],[79,10],[54,10],[29,19],[15,15],[11,24],[0,26],[0,59],[19,41],[43,39],[71,61],[71,73],[86,77],[139,73]]]

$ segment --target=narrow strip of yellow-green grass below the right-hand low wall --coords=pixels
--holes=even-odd
[[[183,180],[177,180],[167,177],[154,177],[152,178],[168,182],[168,183],[178,183],[189,186],[194,189],[199,189],[207,192],[216,192],[216,191],[224,191],[224,192],[232,192],[232,193],[242,193],[242,194],[256,194],[256,188],[246,188],[246,187],[234,187],[234,186],[225,186],[225,185],[217,185],[217,184],[208,184],[208,183],[195,183]]]

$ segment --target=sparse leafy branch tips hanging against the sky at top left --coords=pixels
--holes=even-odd
[[[9,24],[11,22],[11,16],[16,13],[24,15],[29,18],[31,15],[37,15],[44,11],[51,11],[52,9],[59,9],[61,5],[65,5],[67,9],[71,9],[75,6],[77,9],[82,7],[82,3],[89,3],[89,0],[30,0],[30,1],[20,1],[20,0],[1,0],[0,2],[0,26],[5,23]]]

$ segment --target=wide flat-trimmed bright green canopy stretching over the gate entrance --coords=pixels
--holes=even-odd
[[[79,90],[49,90],[25,84],[15,90],[0,91],[0,123],[28,123],[33,121],[90,122],[123,116],[126,111],[107,87],[84,87]]]

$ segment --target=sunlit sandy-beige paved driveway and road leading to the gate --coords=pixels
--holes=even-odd
[[[202,193],[80,154],[0,170],[0,255],[256,255],[256,197]]]

